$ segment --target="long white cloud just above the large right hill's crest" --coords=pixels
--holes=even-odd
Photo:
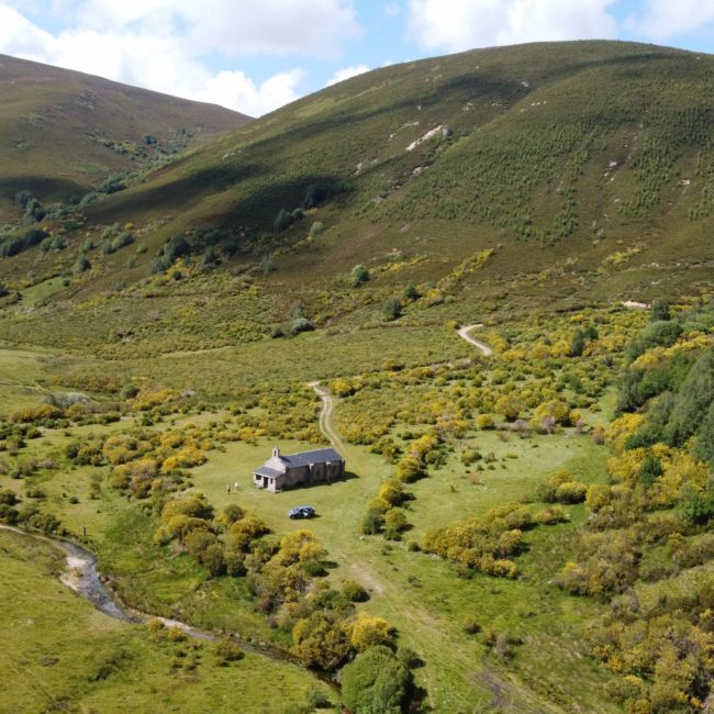
[[[615,0],[410,0],[409,29],[429,49],[617,36]]]

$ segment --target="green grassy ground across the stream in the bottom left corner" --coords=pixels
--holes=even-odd
[[[291,665],[248,654],[220,667],[211,644],[160,643],[111,620],[57,580],[62,559],[44,543],[0,532],[0,567],[4,712],[287,714],[305,711],[309,690],[327,693]]]

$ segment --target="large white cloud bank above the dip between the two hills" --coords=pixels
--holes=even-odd
[[[213,29],[217,36],[217,25],[223,24],[223,45],[216,37],[212,52],[237,55],[247,47],[253,53],[268,53],[271,43],[277,51],[278,37],[287,33],[288,24],[294,23],[291,27],[293,44],[288,49],[321,54],[331,45],[323,42],[317,48],[310,47],[325,26],[321,27],[316,13],[324,12],[323,21],[335,31],[331,42],[355,31],[356,26],[350,24],[352,5],[343,0],[264,0],[263,11],[254,13],[250,22],[246,20],[241,33],[234,36],[234,47],[230,47],[231,26],[235,27],[237,20],[235,10],[228,12],[228,3],[224,0],[204,0],[200,5],[194,0],[87,1],[79,9],[74,5],[77,22],[55,34],[38,27],[9,2],[12,0],[0,1],[0,53],[177,97],[219,103],[253,116],[297,99],[304,72],[292,68],[256,82],[237,69],[211,70],[204,59],[209,53],[204,51],[201,34],[208,37]],[[68,0],[52,2],[55,10],[70,4]],[[278,22],[280,27],[277,35],[270,35],[266,19],[269,11],[277,12],[280,8],[285,11]],[[310,27],[298,22],[298,10],[310,20]],[[331,11],[334,11],[332,15]],[[193,13],[213,14],[210,21],[193,23],[189,22]],[[250,42],[248,35],[252,35]]]

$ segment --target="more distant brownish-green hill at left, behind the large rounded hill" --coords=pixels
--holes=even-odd
[[[0,92],[0,223],[16,217],[18,191],[67,201],[135,167],[157,145],[205,142],[247,121],[221,107],[5,55]]]

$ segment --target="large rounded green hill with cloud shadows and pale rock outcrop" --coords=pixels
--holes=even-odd
[[[317,325],[364,325],[410,283],[420,306],[448,305],[421,323],[692,293],[712,283],[713,68],[710,55],[604,41],[382,68],[51,222],[62,242],[0,259],[0,282],[20,291],[22,308],[111,293],[99,313],[89,303],[104,345],[110,324],[143,324],[152,309],[136,297],[153,280],[152,297],[178,319],[160,352],[233,344],[236,321],[253,325],[245,338],[267,336],[295,300]],[[107,226],[127,223],[137,246],[97,250]],[[188,242],[191,266],[165,248],[171,236]],[[372,279],[359,298],[345,295],[358,263]],[[201,276],[216,266],[224,277]],[[157,293],[157,272],[181,282]],[[242,292],[252,281],[259,298]],[[186,298],[202,294],[200,319],[181,324]],[[59,312],[81,328],[67,324],[62,339],[86,344],[87,315]],[[201,338],[187,343],[199,323]],[[31,315],[19,330],[57,345],[43,324]],[[154,339],[156,325],[146,330]]]

